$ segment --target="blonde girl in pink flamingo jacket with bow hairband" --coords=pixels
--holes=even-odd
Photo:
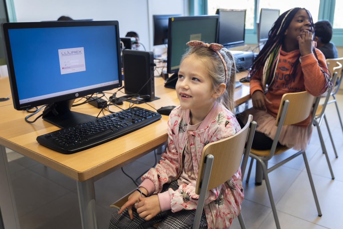
[[[142,184],[114,213],[109,229],[192,228],[199,195],[195,193],[204,146],[236,134],[236,68],[219,44],[191,41],[182,57],[176,92],[180,105],[169,115],[168,145],[162,160],[142,176]],[[240,168],[230,180],[208,192],[199,228],[227,228],[240,213]]]

